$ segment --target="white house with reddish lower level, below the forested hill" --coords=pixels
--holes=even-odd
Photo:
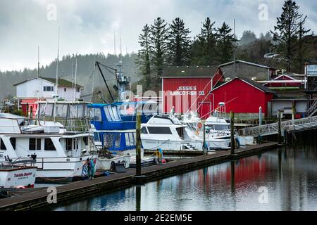
[[[35,115],[39,100],[51,100],[56,96],[56,79],[47,77],[34,77],[27,79],[16,86],[16,97],[22,105],[23,113],[26,115]],[[73,83],[66,79],[58,79],[57,96],[66,101],[73,101],[80,98],[83,86]]]

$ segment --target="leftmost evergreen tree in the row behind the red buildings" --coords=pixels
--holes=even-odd
[[[137,52],[135,64],[138,67],[139,75],[142,76],[142,84],[144,89],[148,89],[151,83],[151,63],[150,63],[150,27],[145,25],[142,29],[142,34],[139,34],[139,45],[141,49]]]

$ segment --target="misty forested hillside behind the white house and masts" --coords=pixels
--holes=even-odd
[[[84,86],[85,89],[82,91],[82,95],[91,94],[92,91],[92,74],[94,70],[94,59],[104,65],[108,65],[111,68],[116,68],[116,64],[119,62],[119,57],[114,55],[104,56],[102,53],[98,54],[89,54],[89,55],[78,55],[77,56],[77,83]],[[125,75],[131,77],[131,82],[137,82],[137,75],[135,73],[135,58],[136,55],[134,53],[123,56],[123,70]],[[75,60],[74,60],[75,61]],[[73,74],[73,56],[63,56],[58,63],[59,72],[58,75],[60,78],[72,80]],[[109,86],[111,87],[111,91],[115,93],[112,86],[115,84],[115,77],[110,72],[103,70],[104,75],[109,82]],[[45,67],[40,68],[39,75],[42,77],[56,77],[56,60],[52,62],[50,65],[46,65]],[[15,87],[13,84],[21,82],[25,79],[30,79],[32,77],[37,76],[37,69],[25,69],[23,71],[8,71],[8,72],[0,72],[0,98],[12,98],[15,96]],[[95,88],[96,89],[104,89],[104,82],[99,74],[99,70],[96,68],[95,75]],[[107,94],[107,93],[103,93]],[[89,96],[90,98],[90,96]],[[87,97],[85,98],[87,99]]]

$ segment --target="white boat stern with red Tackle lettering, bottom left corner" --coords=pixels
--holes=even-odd
[[[34,188],[37,167],[18,162],[0,163],[0,188]]]

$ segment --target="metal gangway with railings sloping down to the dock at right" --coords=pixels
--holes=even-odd
[[[297,120],[287,120],[280,124],[282,135],[284,132],[290,131],[304,131],[309,129],[317,129],[317,116],[306,117]],[[256,127],[247,127],[238,130],[240,135],[243,136],[268,136],[272,134],[278,134],[278,122],[273,124],[265,124]]]

